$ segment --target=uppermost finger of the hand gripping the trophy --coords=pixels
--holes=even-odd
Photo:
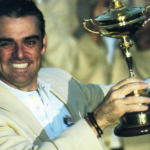
[[[125,84],[134,83],[134,82],[144,82],[144,81],[141,79],[135,78],[135,77],[134,78],[126,78],[126,79],[120,81],[118,84],[116,84],[113,87],[113,89],[115,90],[115,89],[122,87]]]

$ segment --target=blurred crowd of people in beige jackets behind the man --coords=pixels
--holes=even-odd
[[[109,10],[111,0],[36,0],[46,20],[47,52],[42,67],[58,67],[84,84],[117,83],[129,76],[118,47],[120,40],[100,37],[83,28],[84,19]],[[124,0],[130,7],[146,7],[149,0]],[[146,19],[150,17],[150,11]],[[92,24],[88,28],[97,31]],[[133,70],[141,79],[150,77],[150,22],[132,37]],[[102,136],[107,150],[150,150],[150,135],[118,138],[113,128]]]

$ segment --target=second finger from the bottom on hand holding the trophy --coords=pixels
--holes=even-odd
[[[124,105],[130,105],[130,104],[149,104],[150,103],[150,98],[148,97],[142,97],[142,96],[130,96],[126,97],[121,100],[122,104]]]

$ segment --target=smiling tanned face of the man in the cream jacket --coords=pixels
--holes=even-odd
[[[0,17],[0,80],[20,90],[36,90],[45,48],[46,36],[42,39],[36,17]]]

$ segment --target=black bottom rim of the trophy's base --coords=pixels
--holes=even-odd
[[[118,125],[114,130],[115,135],[119,137],[132,137],[132,136],[139,136],[150,133],[150,124],[141,126],[141,127],[134,127],[134,128],[123,128],[121,125]]]

